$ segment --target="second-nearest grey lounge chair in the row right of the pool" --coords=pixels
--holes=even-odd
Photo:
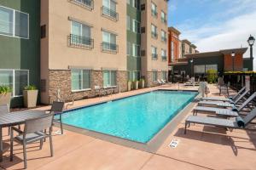
[[[245,100],[239,108],[232,109],[221,109],[217,107],[206,107],[206,106],[196,106],[193,110],[193,115],[197,115],[198,111],[201,113],[213,113],[218,116],[238,116],[238,112],[241,111],[245,106],[247,106],[256,97],[256,92],[254,92],[247,100]]]

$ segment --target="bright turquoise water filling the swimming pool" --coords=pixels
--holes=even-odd
[[[147,143],[191,100],[195,92],[154,91],[67,111],[62,122],[74,127]]]

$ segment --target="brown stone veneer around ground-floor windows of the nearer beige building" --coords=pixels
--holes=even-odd
[[[117,71],[117,87],[115,93],[127,91],[127,71]],[[91,89],[79,92],[71,90],[71,71],[70,70],[50,70],[49,71],[49,103],[57,99],[57,91],[60,89],[61,99],[72,101],[73,99],[86,99],[98,95],[94,90],[95,86],[103,87],[103,71],[91,71]],[[111,90],[111,89],[109,89]]]

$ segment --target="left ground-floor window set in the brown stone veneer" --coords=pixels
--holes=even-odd
[[[71,70],[72,91],[90,89],[90,71],[83,69]]]

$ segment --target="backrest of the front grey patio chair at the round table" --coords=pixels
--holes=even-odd
[[[33,119],[27,119],[25,121],[24,134],[35,133],[38,131],[44,131],[49,127],[52,127],[53,124],[53,114],[47,114],[45,116],[40,116]]]

